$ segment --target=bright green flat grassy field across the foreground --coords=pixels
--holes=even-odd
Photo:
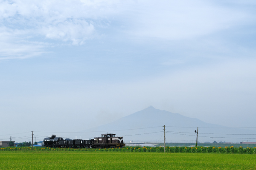
[[[255,170],[255,154],[1,151],[0,170]]]

